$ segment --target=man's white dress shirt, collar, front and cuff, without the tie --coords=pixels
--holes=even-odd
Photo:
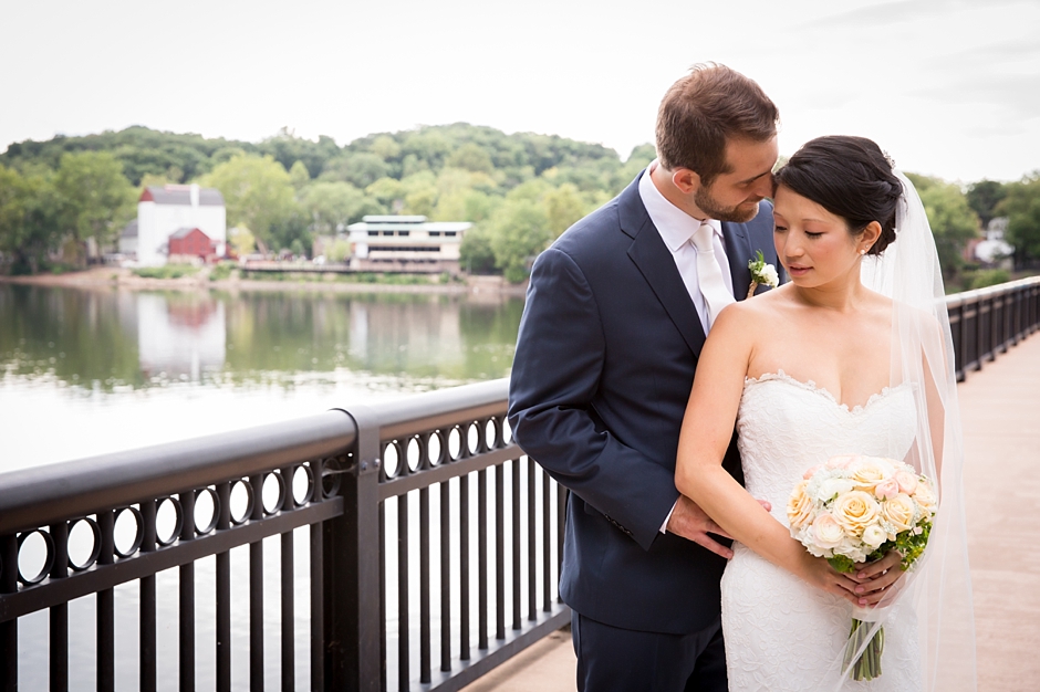
[[[695,219],[665,199],[665,196],[661,193],[661,190],[657,189],[651,178],[651,171],[656,167],[657,160],[655,159],[643,171],[643,177],[639,178],[639,198],[643,200],[643,206],[646,207],[646,213],[649,214],[651,221],[654,222],[657,232],[661,233],[661,239],[665,241],[665,245],[672,252],[675,266],[679,270],[683,283],[686,284],[686,291],[697,308],[700,326],[704,327],[704,333],[707,334],[708,305],[704,300],[704,294],[700,293],[700,285],[697,283],[697,249],[690,242],[690,239],[701,223],[707,222],[715,230],[711,237],[715,245],[715,258],[722,270],[722,281],[729,292],[732,293],[734,279],[729,272],[726,243],[722,242],[722,224],[715,219]],[[672,511],[668,512],[661,525],[661,533],[667,532],[668,520],[672,518],[672,512],[674,511],[675,506],[673,505]]]

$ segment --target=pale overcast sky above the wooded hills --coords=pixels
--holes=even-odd
[[[782,154],[854,134],[948,180],[1040,169],[1038,0],[0,0],[0,149],[467,122],[625,158],[668,85],[715,61],[780,107]]]

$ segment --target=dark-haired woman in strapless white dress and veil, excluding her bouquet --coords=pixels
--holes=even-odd
[[[676,486],[738,543],[722,577],[730,690],[975,690],[975,641],[949,319],[927,217],[876,144],[821,137],[776,176],[790,282],[727,307],[697,367]],[[747,490],[721,466],[734,424]],[[935,481],[928,547],[846,575],[791,537],[784,507],[836,454]],[[767,512],[755,499],[769,501]],[[884,627],[882,674],[855,681],[853,607]]]

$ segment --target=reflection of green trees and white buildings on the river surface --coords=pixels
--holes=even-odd
[[[0,285],[0,367],[103,390],[344,371],[451,384],[508,374],[522,307],[498,296]]]

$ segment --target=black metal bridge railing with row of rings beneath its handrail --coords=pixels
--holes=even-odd
[[[964,379],[1040,325],[1040,279],[947,305]],[[126,686],[141,690],[173,659],[180,690],[472,682],[570,618],[555,590],[565,492],[512,443],[506,407],[496,380],[0,475],[0,690],[19,689],[20,672],[51,690],[114,690],[128,663],[121,628],[136,630]],[[126,622],[117,601],[134,583]],[[159,647],[164,608],[173,647]],[[20,642],[20,621],[42,612],[46,635]],[[70,650],[83,639],[90,670],[70,663],[85,660]],[[232,650],[248,665],[232,667]]]

